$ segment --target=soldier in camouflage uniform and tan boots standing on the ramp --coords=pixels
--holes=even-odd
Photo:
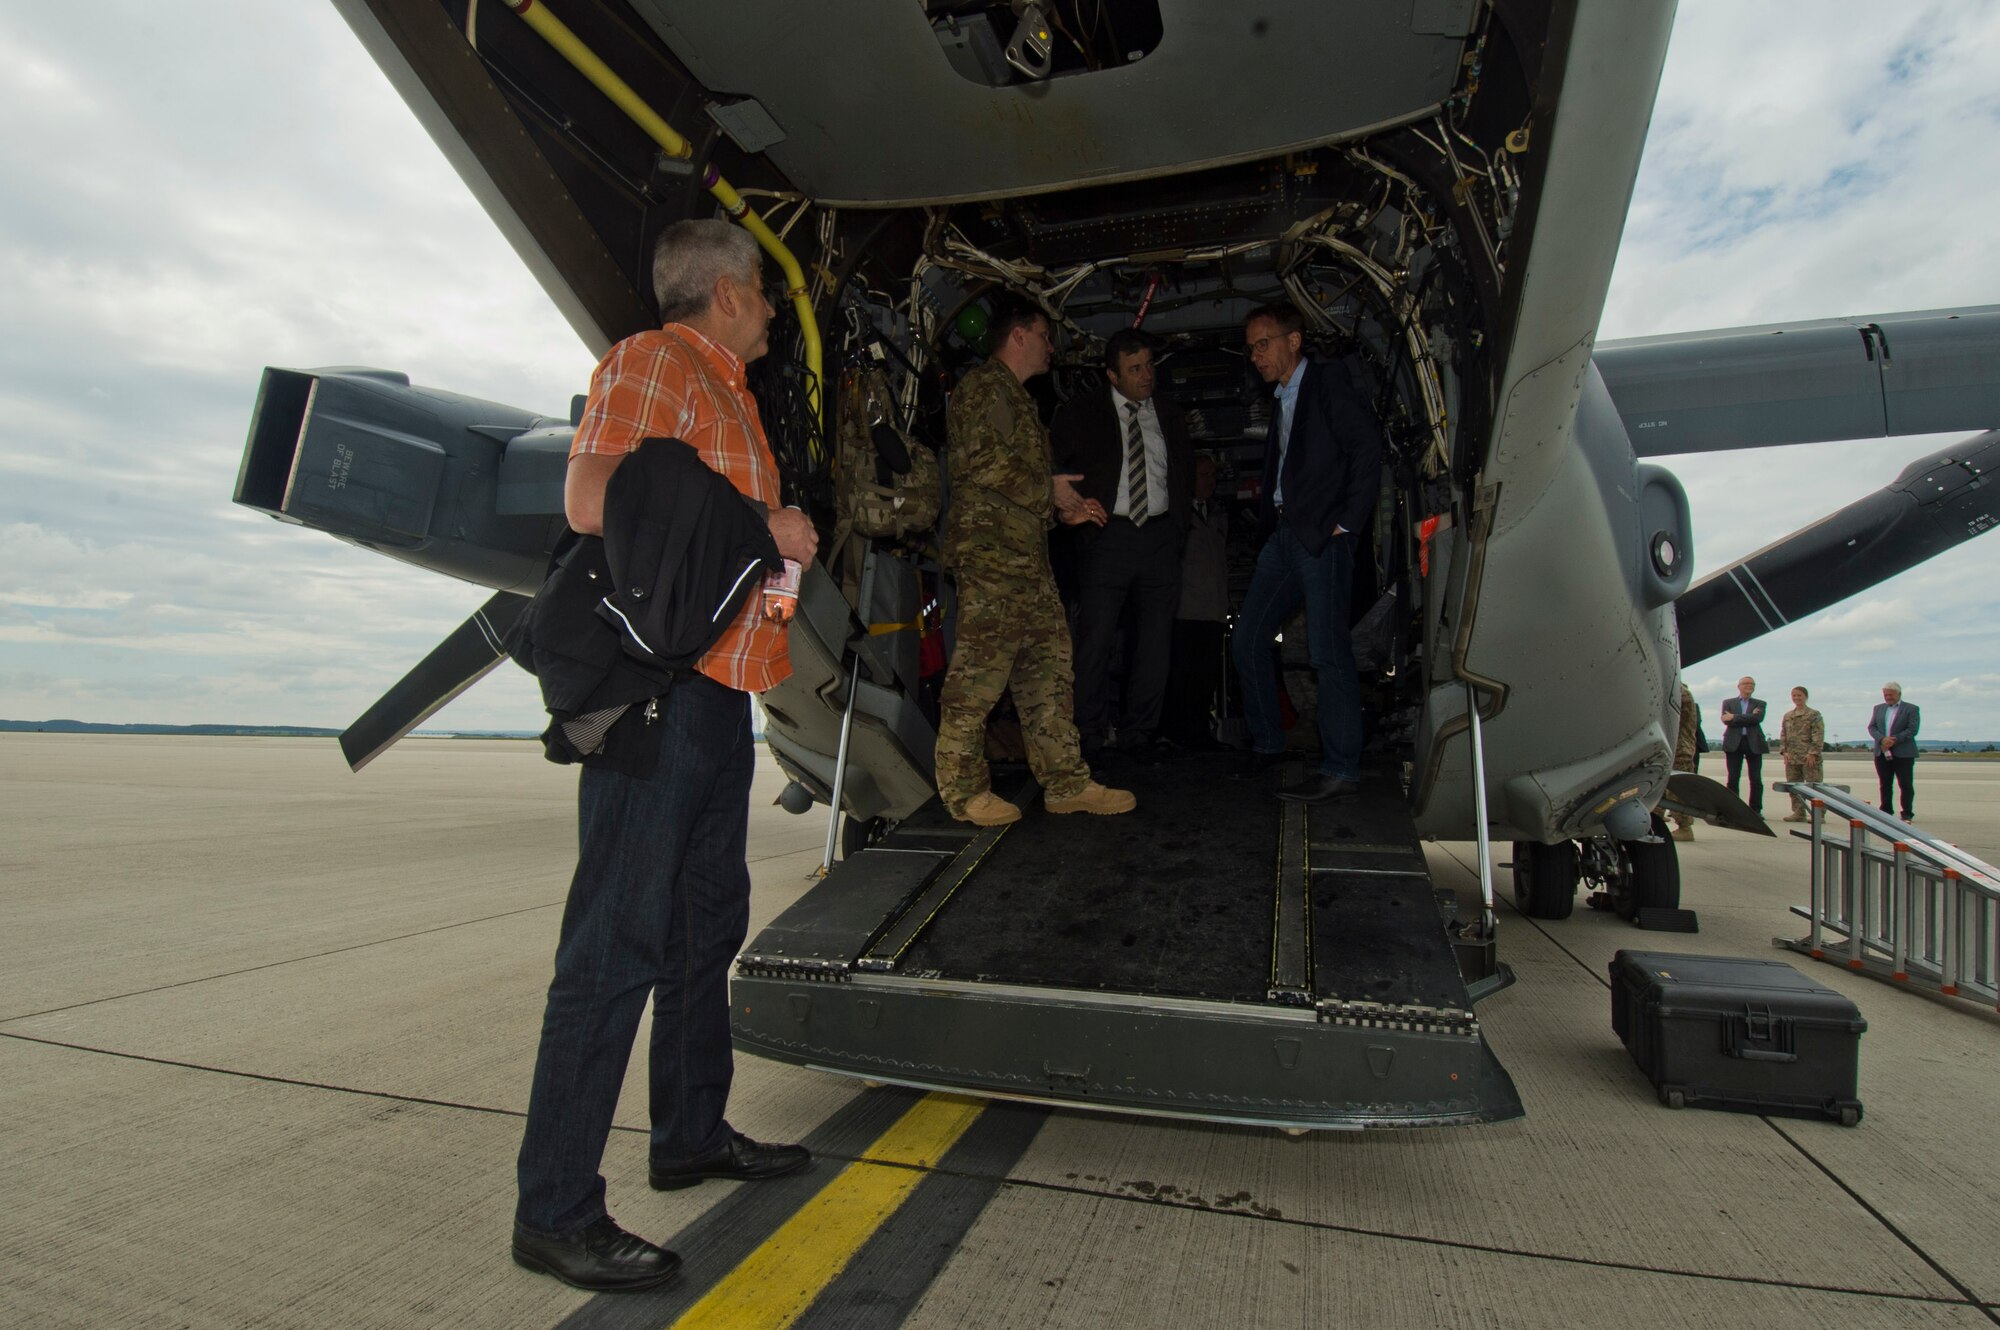
[[[938,796],[960,822],[1000,826],[1020,808],[992,792],[986,716],[1014,690],[1028,766],[1048,812],[1130,812],[1128,790],[1090,778],[1076,742],[1070,626],[1048,570],[1056,520],[1048,432],[1022,382],[1048,370],[1048,320],[1028,306],[988,324],[994,354],[952,394],[944,562],[958,576],[958,646],[938,718]],[[1102,522],[1064,490],[1064,522]]]

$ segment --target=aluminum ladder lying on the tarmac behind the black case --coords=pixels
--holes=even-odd
[[[2000,1006],[2000,870],[1828,784],[1790,782],[1810,810],[1804,938],[1774,944],[1892,984]]]

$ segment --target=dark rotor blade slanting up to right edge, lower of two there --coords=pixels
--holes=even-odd
[[[2000,526],[2000,430],[1910,464],[1894,484],[1710,574],[1674,602],[1680,664],[1804,618]]]

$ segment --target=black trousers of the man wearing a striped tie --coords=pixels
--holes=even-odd
[[[1116,720],[1120,744],[1154,738],[1180,604],[1180,528],[1172,518],[1146,526],[1112,518],[1100,530],[1078,530],[1076,572],[1076,732],[1100,744]],[[1114,708],[1112,662],[1128,604],[1130,668]]]

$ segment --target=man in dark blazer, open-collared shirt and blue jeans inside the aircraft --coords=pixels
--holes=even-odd
[[[1320,682],[1320,764],[1278,798],[1318,804],[1350,798],[1362,774],[1360,672],[1350,636],[1354,558],[1382,490],[1382,426],[1350,364],[1304,356],[1304,326],[1292,306],[1250,314],[1244,342],[1276,402],[1264,440],[1258,550],[1230,652],[1250,722],[1246,772],[1284,756],[1278,668],[1272,640],[1306,606],[1306,636]]]

